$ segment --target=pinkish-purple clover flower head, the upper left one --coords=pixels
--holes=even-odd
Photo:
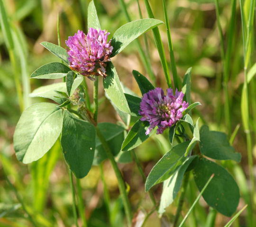
[[[113,47],[108,42],[110,33],[107,31],[90,28],[85,35],[78,30],[73,36],[66,40],[68,46],[68,61],[72,70],[84,76],[106,77],[106,62],[110,61],[110,54]]]

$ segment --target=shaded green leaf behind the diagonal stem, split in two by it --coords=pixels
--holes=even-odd
[[[121,150],[122,142],[124,140],[124,128],[109,122],[98,124],[103,137],[109,144],[112,154],[116,156]],[[101,141],[96,137],[96,150],[93,160],[93,165],[99,165],[107,157],[104,148],[101,146]]]

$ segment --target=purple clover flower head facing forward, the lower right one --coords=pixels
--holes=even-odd
[[[143,95],[140,103],[139,114],[141,121],[148,121],[150,126],[146,131],[148,135],[152,129],[158,126],[156,134],[161,134],[167,127],[173,126],[182,118],[182,112],[188,107],[188,103],[183,101],[184,94],[176,89],[167,89],[167,95],[160,87],[150,90]]]

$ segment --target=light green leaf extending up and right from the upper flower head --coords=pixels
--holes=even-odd
[[[111,41],[111,45],[114,48],[111,57],[121,52],[138,36],[163,23],[164,22],[161,20],[146,18],[135,20],[119,27],[119,29],[114,33]]]

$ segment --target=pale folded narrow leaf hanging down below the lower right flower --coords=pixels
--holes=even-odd
[[[187,170],[189,164],[194,160],[196,156],[191,156],[185,159],[183,164],[174,172],[174,174],[164,181],[163,192],[161,195],[160,205],[158,212],[160,214],[165,213],[165,208],[168,207],[176,198],[177,193],[179,192],[183,176]]]

